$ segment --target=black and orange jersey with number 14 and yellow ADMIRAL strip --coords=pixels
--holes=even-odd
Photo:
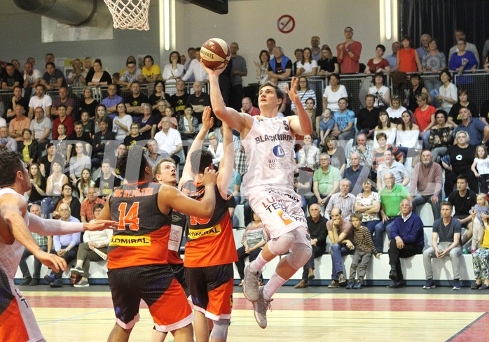
[[[171,213],[158,208],[157,183],[126,184],[113,190],[111,219],[119,222],[107,250],[108,269],[168,264]]]

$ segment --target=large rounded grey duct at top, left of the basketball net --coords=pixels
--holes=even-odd
[[[69,25],[88,22],[95,9],[96,0],[13,0],[22,10],[44,15]]]

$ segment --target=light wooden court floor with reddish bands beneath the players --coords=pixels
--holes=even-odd
[[[31,289],[20,287],[47,341],[106,341],[115,322],[106,285]],[[230,342],[489,341],[489,291],[283,287],[274,296],[268,327],[261,329],[240,290],[235,287]],[[140,313],[130,341],[150,339],[153,324],[144,302]]]

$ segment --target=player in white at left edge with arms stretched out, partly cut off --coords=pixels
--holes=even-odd
[[[64,259],[57,255],[43,252],[32,238],[31,231],[41,235],[73,234],[85,229],[102,230],[116,227],[112,221],[81,224],[59,220],[43,220],[27,213],[27,201],[23,194],[30,190],[29,174],[25,169],[22,157],[17,152],[0,154],[0,213],[5,220],[0,220],[0,341],[44,341],[41,330],[36,323],[34,313],[27,300],[13,284],[15,271],[24,252],[24,247],[43,264],[59,271],[66,270]],[[8,225],[13,241],[5,234]],[[30,229],[30,230],[29,230]],[[4,244],[10,243],[10,244]]]

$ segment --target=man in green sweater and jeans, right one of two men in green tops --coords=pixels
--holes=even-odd
[[[382,222],[378,222],[376,225],[373,240],[377,252],[383,252],[384,231],[387,231],[387,238],[390,240],[392,224],[399,217],[401,200],[409,197],[409,192],[406,187],[394,183],[394,179],[392,173],[385,173],[383,179],[385,187],[379,192],[381,205],[380,218],[382,218]]]

